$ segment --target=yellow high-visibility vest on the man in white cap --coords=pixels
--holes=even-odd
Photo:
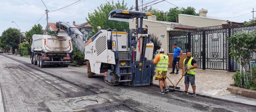
[[[161,71],[168,71],[169,57],[164,54],[160,55],[160,62],[157,62],[156,68]]]

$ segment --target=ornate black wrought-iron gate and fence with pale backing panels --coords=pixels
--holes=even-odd
[[[169,53],[173,53],[172,44],[177,43],[184,53],[191,51],[198,68],[239,70],[239,64],[229,55],[231,43],[226,41],[226,37],[234,32],[252,32],[255,29],[255,22],[247,22],[169,32]],[[255,65],[256,53],[251,57],[251,63]]]

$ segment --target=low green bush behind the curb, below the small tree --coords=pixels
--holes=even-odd
[[[256,68],[255,67],[252,67],[252,76],[251,76],[251,71],[249,71],[248,80],[246,79],[246,73],[243,71],[241,72],[241,74],[240,74],[240,71],[236,71],[236,73],[232,76],[232,79],[233,79],[234,86],[247,88],[250,90],[256,90]]]

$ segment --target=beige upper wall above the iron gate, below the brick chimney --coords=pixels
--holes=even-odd
[[[218,20],[218,19],[211,19],[206,17],[194,17],[189,15],[182,15],[179,14],[179,23],[182,25],[187,26],[194,26],[194,27],[209,27],[209,26],[217,26],[222,25],[222,22],[226,22],[227,20]]]

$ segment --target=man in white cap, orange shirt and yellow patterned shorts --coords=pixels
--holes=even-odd
[[[156,56],[154,59],[154,64],[156,65],[156,75],[155,80],[159,81],[159,87],[160,87],[160,94],[164,94],[164,92],[168,92],[167,88],[167,82],[166,82],[166,73],[168,71],[168,65],[169,65],[169,57],[164,55],[164,50],[160,49],[160,54]],[[165,90],[163,91],[163,85],[165,87]]]

